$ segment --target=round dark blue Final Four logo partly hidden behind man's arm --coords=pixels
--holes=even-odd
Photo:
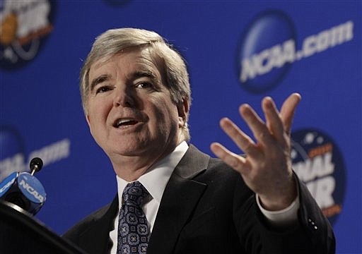
[[[331,224],[341,213],[346,170],[336,143],[315,129],[293,132],[293,170],[303,181]]]

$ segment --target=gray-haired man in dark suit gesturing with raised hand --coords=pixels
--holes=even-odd
[[[334,253],[331,226],[291,169],[300,95],[280,112],[264,98],[266,123],[249,105],[240,107],[256,142],[221,119],[245,157],[212,143],[220,158],[212,159],[188,144],[185,61],[155,32],[124,28],[95,40],[81,70],[81,97],[118,185],[110,205],[64,235],[88,253]],[[129,208],[134,186],[142,198]],[[137,211],[131,220],[129,210]],[[127,235],[138,220],[146,222],[141,235]]]

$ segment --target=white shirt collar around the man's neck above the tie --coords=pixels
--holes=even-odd
[[[185,155],[188,145],[185,141],[177,145],[175,150],[171,152],[169,155],[161,159],[159,162],[154,164],[150,169],[146,171],[145,174],[139,177],[137,181],[142,183],[142,185],[146,188],[148,193],[154,198],[158,203],[160,202],[163,191],[165,191],[166,184],[170,179],[171,174],[173,174],[173,170],[180,162],[182,157]],[[126,188],[129,182],[121,179],[116,175],[117,178],[117,190],[119,197],[119,207],[122,204],[122,193],[124,188]]]

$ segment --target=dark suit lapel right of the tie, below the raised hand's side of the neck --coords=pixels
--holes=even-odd
[[[208,163],[209,156],[190,145],[163,193],[147,254],[173,253],[180,231],[206,189],[205,183],[192,178],[202,174]]]

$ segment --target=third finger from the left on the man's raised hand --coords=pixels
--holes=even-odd
[[[254,109],[252,109],[252,107],[248,104],[243,104],[240,106],[239,112],[244,121],[247,123],[247,126],[249,126],[259,145],[263,145],[264,147],[271,145],[274,140],[271,138],[264,121],[260,119]]]

